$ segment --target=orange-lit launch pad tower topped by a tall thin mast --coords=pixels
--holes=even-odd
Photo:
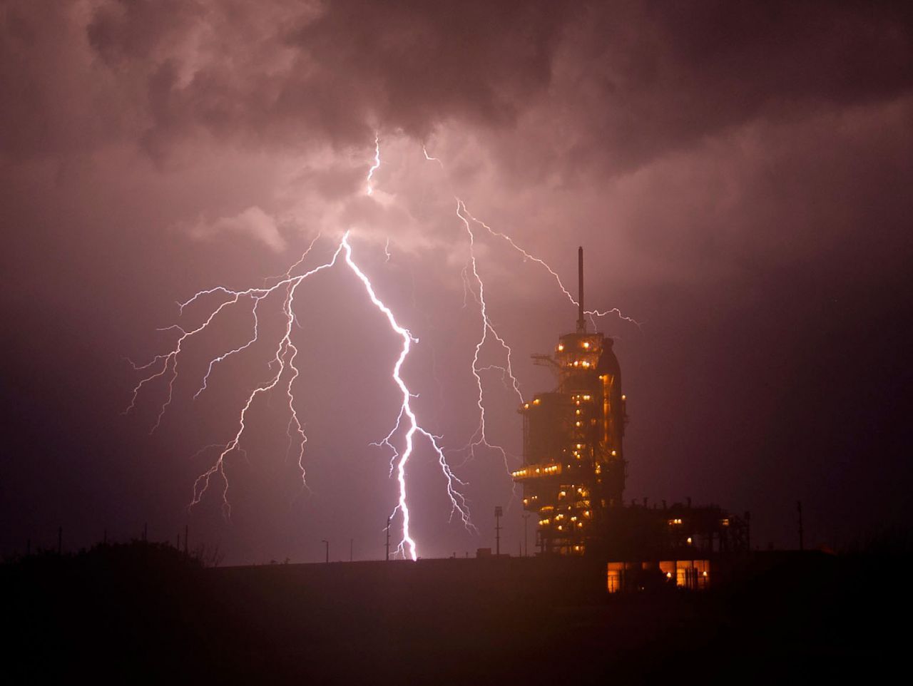
[[[578,251],[577,330],[558,339],[552,355],[557,389],[524,402],[523,507],[538,516],[542,553],[603,551],[614,512],[623,506],[624,395],[612,338],[589,332],[583,309],[583,248]]]

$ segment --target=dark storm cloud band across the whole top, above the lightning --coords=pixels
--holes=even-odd
[[[624,169],[755,118],[896,96],[913,82],[911,13],[719,0],[13,3],[4,149],[80,148],[124,130],[158,153],[201,132],[424,139],[447,120],[509,128],[544,100],[575,122],[578,160],[607,151]]]

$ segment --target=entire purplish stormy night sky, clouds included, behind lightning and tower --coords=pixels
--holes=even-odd
[[[344,266],[302,285],[293,337],[308,435],[260,396],[226,463],[232,515],[196,476],[269,376],[279,305],[188,343],[173,401],[150,383],[173,324],[261,286],[320,234],[419,343],[404,365],[479,533],[450,518],[426,443],[408,465],[421,556],[522,538],[476,430],[481,334],[456,197],[575,284],[615,338],[630,424],[625,499],[750,510],[752,543],[848,546],[913,516],[913,9],[904,3],[0,3],[0,553],[110,538],[219,546],[225,562],[383,556],[400,340]],[[381,166],[366,178],[378,137]],[[438,161],[426,159],[428,156]],[[552,276],[479,225],[488,316],[525,397],[530,354],[573,330]],[[389,254],[389,256],[388,256]],[[470,282],[471,283],[471,282]],[[477,295],[477,294],[476,294]],[[272,338],[270,338],[272,337]],[[502,365],[489,338],[480,366]],[[519,464],[518,399],[485,381],[488,440]],[[294,453],[294,450],[292,451]],[[394,530],[394,543],[396,531]],[[531,545],[531,537],[530,537]]]

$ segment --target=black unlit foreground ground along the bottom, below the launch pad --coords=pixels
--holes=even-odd
[[[726,587],[613,597],[559,562],[213,569],[142,542],[30,556],[0,566],[0,679],[679,686],[870,682],[906,663],[908,556],[783,555]]]

